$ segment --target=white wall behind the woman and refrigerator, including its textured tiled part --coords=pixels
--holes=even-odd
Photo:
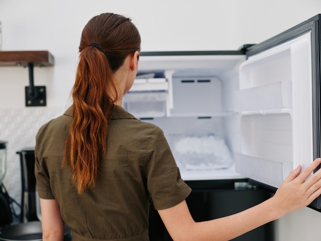
[[[319,0],[0,0],[3,50],[49,50],[53,67],[34,70],[35,85],[47,86],[47,107],[25,108],[28,69],[0,68],[0,139],[9,141],[9,194],[20,198],[15,151],[34,145],[40,125],[69,104],[84,25],[102,12],[132,18],[143,51],[236,50],[259,43],[321,12]],[[18,127],[18,128],[17,128]],[[276,240],[319,240],[321,214],[309,208],[277,221]]]

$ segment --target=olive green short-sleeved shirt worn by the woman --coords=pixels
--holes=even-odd
[[[150,201],[155,209],[166,209],[191,192],[180,177],[163,131],[117,106],[96,185],[77,194],[70,168],[61,168],[71,122],[72,107],[37,133],[39,196],[56,200],[73,240],[149,240]]]

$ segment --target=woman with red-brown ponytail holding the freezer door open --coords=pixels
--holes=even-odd
[[[73,105],[36,136],[35,175],[43,239],[145,241],[152,200],[174,240],[229,240],[321,194],[321,159],[297,167],[273,197],[243,212],[195,223],[185,199],[191,189],[162,130],[126,112],[122,97],[133,84],[141,38],[129,18],[93,17],[79,46]],[[307,180],[306,180],[307,179]]]

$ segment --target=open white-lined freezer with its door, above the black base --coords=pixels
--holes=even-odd
[[[163,129],[184,180],[275,191],[320,156],[320,17],[238,50],[142,52],[123,107]]]

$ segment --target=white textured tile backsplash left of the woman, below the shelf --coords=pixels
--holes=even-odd
[[[7,144],[7,171],[3,180],[9,195],[21,203],[21,167],[17,151],[34,147],[38,129],[65,112],[65,107],[0,109],[0,140]],[[16,210],[19,212],[20,210]]]

